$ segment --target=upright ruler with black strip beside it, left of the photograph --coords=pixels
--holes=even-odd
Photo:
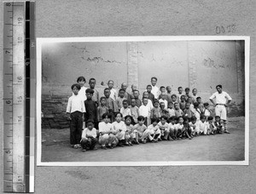
[[[34,191],[34,2],[3,2],[3,191]]]

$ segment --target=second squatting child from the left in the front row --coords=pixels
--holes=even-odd
[[[102,122],[99,123],[99,143],[102,145],[103,150],[108,148],[113,148],[113,142],[115,140],[113,125],[109,123],[109,120],[112,116],[108,113],[102,115]]]

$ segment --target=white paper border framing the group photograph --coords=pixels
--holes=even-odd
[[[245,159],[243,161],[161,161],[161,162],[42,162],[41,93],[42,45],[44,43],[145,42],[145,41],[245,41]],[[37,166],[196,166],[249,165],[249,58],[250,37],[245,36],[148,36],[148,37],[38,37],[37,38],[36,130]]]

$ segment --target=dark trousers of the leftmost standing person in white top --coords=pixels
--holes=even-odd
[[[74,111],[70,115],[70,144],[76,145],[80,143],[83,128],[83,113]]]

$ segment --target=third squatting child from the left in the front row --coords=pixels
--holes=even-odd
[[[113,130],[115,137],[118,141],[118,145],[123,147],[125,144],[127,144],[125,140],[125,132],[126,132],[126,126],[125,122],[122,121],[123,115],[118,112],[115,116],[115,122],[113,122]]]

